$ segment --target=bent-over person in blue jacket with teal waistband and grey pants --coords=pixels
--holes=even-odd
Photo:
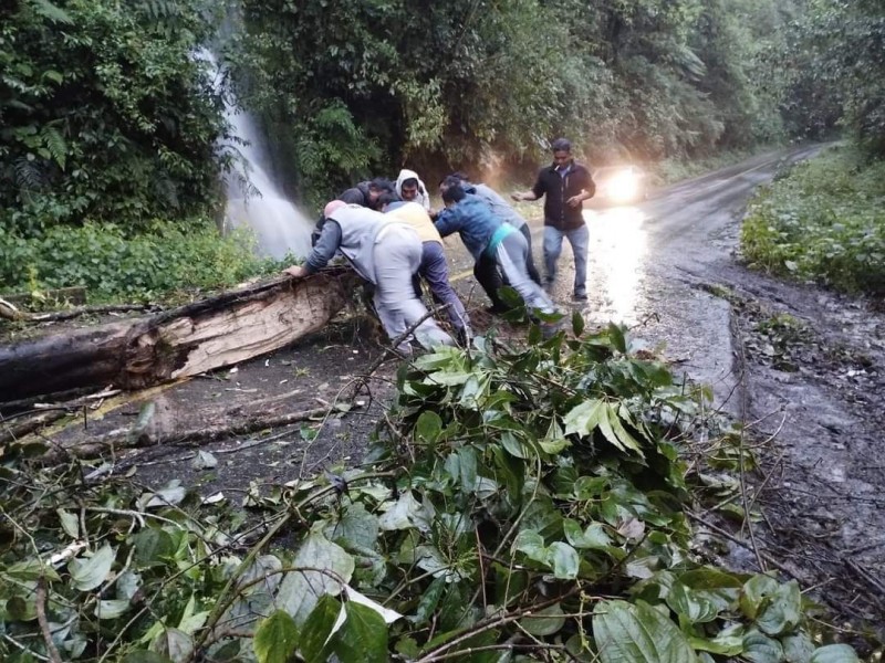
[[[525,270],[529,248],[517,229],[501,221],[486,202],[467,193],[460,183],[442,192],[442,202],[446,209],[434,222],[440,235],[445,238],[457,232],[477,264],[483,257],[493,260],[527,308],[555,313],[553,302]]]

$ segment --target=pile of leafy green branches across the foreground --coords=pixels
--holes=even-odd
[[[238,505],[7,450],[3,660],[856,661],[701,561],[691,394],[582,327],[418,358],[365,466]]]

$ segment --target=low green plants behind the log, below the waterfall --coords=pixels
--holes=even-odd
[[[106,223],[35,238],[0,233],[0,292],[33,293],[35,307],[49,288],[83,285],[91,303],[176,301],[185,291],[227,287],[278,269],[256,255],[250,233],[221,236],[202,219],[158,222],[136,234]]]

